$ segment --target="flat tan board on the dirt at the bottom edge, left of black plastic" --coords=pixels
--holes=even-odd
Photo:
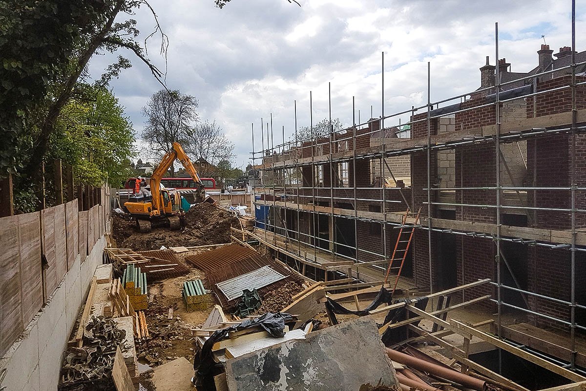
[[[156,391],[193,391],[191,378],[193,376],[193,363],[186,358],[178,358],[166,364],[151,369],[151,381]],[[148,373],[145,372],[145,375]]]

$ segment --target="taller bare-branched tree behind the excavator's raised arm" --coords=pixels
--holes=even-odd
[[[179,90],[160,90],[152,94],[142,114],[147,117],[147,126],[142,131],[142,140],[152,148],[157,158],[171,150],[173,142],[179,142],[189,151],[193,144],[193,125],[199,120],[197,99]],[[175,165],[171,164],[171,176],[175,176]]]

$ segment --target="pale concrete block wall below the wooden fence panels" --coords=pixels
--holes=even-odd
[[[101,236],[83,262],[77,255],[73,266],[21,338],[0,358],[0,371],[6,368],[6,377],[0,386],[7,391],[57,390],[63,351],[87,296],[94,270],[102,263],[105,246],[105,236]]]

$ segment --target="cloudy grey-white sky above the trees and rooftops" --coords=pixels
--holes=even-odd
[[[577,49],[586,49],[586,0],[577,0]],[[332,117],[352,124],[381,114],[381,52],[384,52],[384,113],[389,115],[427,102],[427,62],[431,63],[431,100],[479,87],[485,57],[495,64],[495,22],[499,57],[513,72],[537,64],[542,35],[554,53],[570,46],[570,0],[490,2],[486,0],[232,0],[223,9],[213,0],[150,0],[169,37],[166,85],[199,100],[202,120],[216,120],[236,145],[236,164],[246,165],[260,150],[261,117],[272,113],[274,144],[309,125],[309,91],[314,123]],[[130,16],[145,38],[154,28],[147,8]],[[140,41],[142,42],[142,40]],[[149,57],[160,69],[156,39]],[[122,53],[124,54],[124,53]],[[141,107],[161,86],[134,59],[111,86],[139,137],[145,118]],[[95,56],[91,73],[99,76],[112,55]],[[402,116],[405,121],[407,117]],[[398,124],[398,117],[385,125]],[[265,125],[266,126],[266,125]],[[145,154],[142,154],[143,156]]]

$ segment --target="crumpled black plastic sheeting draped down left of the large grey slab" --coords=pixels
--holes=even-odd
[[[193,369],[196,372],[195,386],[197,389],[202,391],[216,390],[216,385],[214,385],[214,368],[216,367],[216,362],[212,356],[212,347],[216,342],[226,339],[230,331],[240,331],[260,326],[271,336],[282,338],[285,336],[285,322],[292,320],[293,317],[289,314],[267,312],[261,317],[246,319],[240,324],[214,332],[193,358]]]

